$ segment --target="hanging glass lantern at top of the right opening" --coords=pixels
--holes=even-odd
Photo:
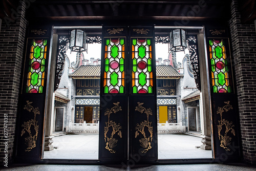
[[[186,44],[186,31],[183,29],[174,29],[170,32],[169,51],[180,52],[185,51]]]

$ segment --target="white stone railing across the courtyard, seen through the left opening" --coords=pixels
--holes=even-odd
[[[70,132],[99,133],[98,123],[72,123],[69,122]]]

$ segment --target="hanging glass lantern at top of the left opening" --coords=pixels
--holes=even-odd
[[[73,52],[87,52],[86,32],[84,30],[75,29],[70,31],[69,48]]]

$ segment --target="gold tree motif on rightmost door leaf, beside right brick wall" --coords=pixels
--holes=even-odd
[[[221,120],[218,120],[219,124],[218,124],[218,135],[219,135],[219,140],[221,141],[220,146],[223,147],[226,151],[230,151],[230,148],[228,147],[228,145],[231,143],[231,137],[229,137],[228,133],[231,133],[231,135],[235,136],[236,133],[234,132],[234,129],[232,127],[234,127],[232,122],[229,122],[226,119],[222,118],[222,115],[224,112],[228,112],[229,110],[233,109],[232,105],[229,104],[230,101],[225,101],[224,103],[226,105],[224,105],[222,108],[218,107],[218,111],[217,114],[221,115]],[[225,131],[225,133],[223,134],[223,130]],[[222,134],[223,135],[222,135]]]

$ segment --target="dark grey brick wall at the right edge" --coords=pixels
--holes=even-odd
[[[242,24],[238,3],[231,3],[232,58],[236,75],[243,158],[256,163],[256,33],[254,23]]]

